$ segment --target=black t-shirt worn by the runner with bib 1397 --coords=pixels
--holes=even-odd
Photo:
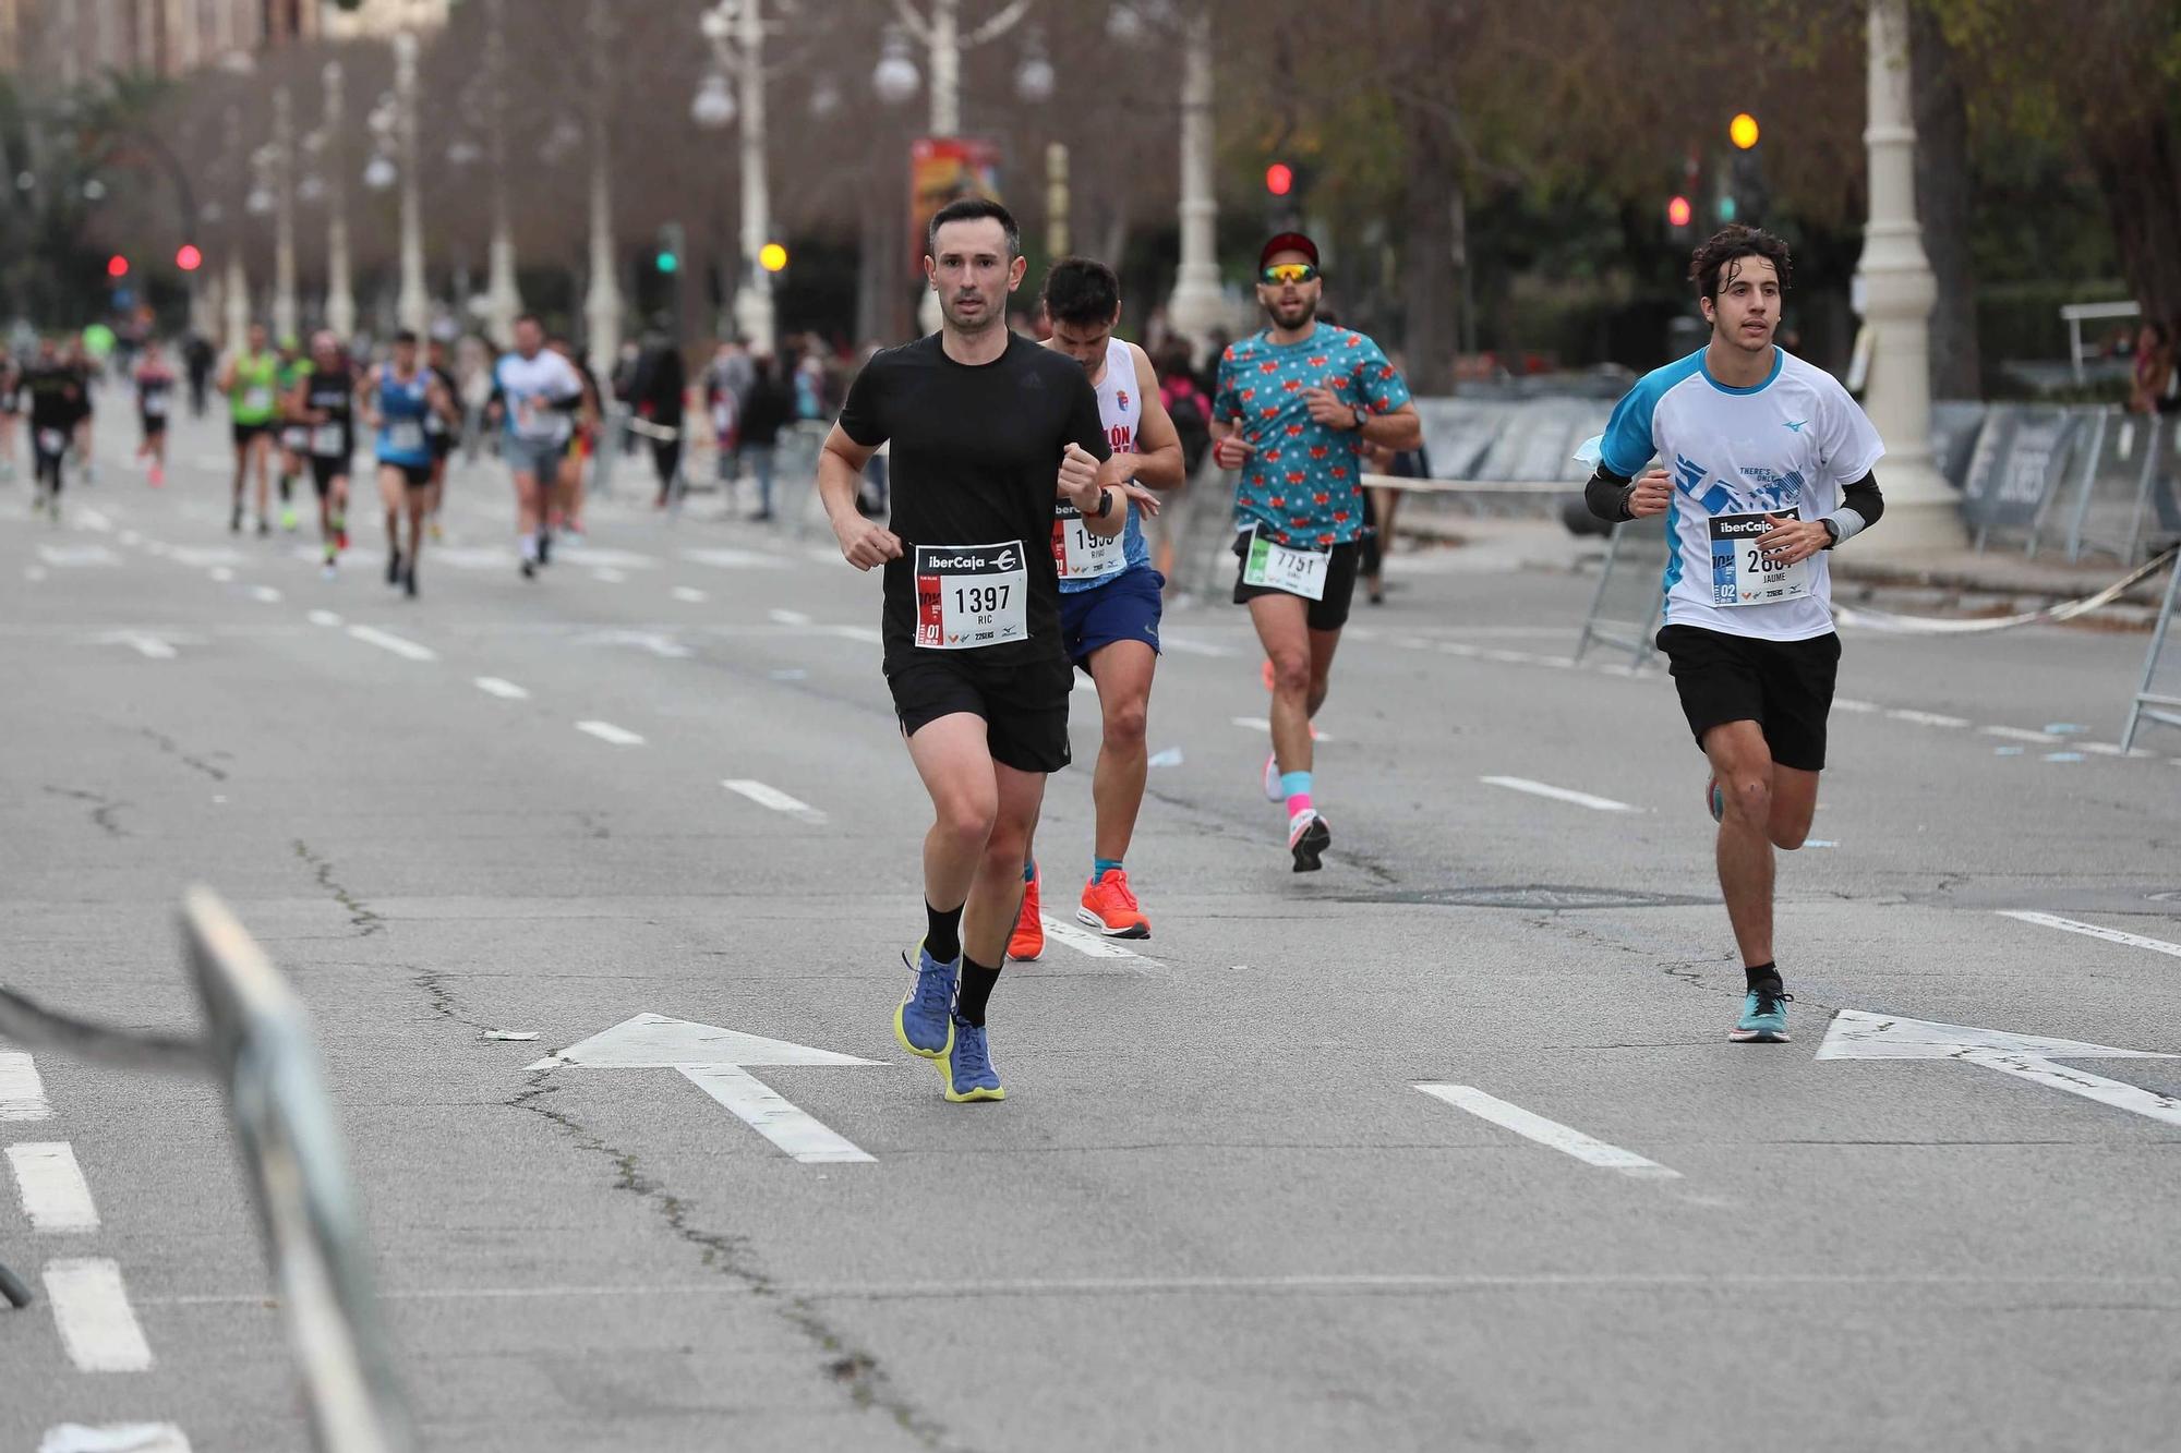
[[[1051,550],[1056,478],[1069,443],[1101,460],[1110,454],[1082,364],[1016,336],[992,362],[960,364],[931,334],[864,364],[840,428],[866,447],[894,443],[888,526],[903,556],[885,563],[885,670],[918,657],[916,545],[1001,541],[1023,545],[1029,639],[960,655],[979,665],[1064,661]]]

